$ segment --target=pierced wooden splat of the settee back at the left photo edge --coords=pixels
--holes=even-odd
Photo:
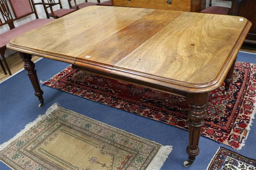
[[[0,19],[0,26],[8,24],[10,29],[15,28],[13,25],[14,19],[12,17],[11,11],[9,9],[9,6],[8,6],[6,0],[0,0],[0,13],[1,13],[2,19],[3,19],[3,22]]]

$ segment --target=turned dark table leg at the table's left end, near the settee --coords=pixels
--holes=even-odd
[[[31,61],[32,56],[30,54],[20,52],[20,57],[24,61],[24,69],[27,70],[27,75],[29,76],[30,82],[33,85],[35,91],[34,95],[37,96],[40,101],[39,107],[42,107],[44,104],[43,91],[41,90],[38,82],[36,70],[34,69],[35,65],[33,61]]]

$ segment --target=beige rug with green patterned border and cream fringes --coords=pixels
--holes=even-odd
[[[171,150],[54,104],[0,145],[0,160],[13,170],[159,170]]]

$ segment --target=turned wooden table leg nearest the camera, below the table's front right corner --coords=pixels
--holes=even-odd
[[[191,104],[189,109],[189,145],[187,153],[189,160],[184,162],[184,166],[189,166],[195,161],[195,156],[199,154],[199,138],[203,120],[206,115],[206,104],[208,101],[208,93],[204,94],[188,94],[187,102]]]

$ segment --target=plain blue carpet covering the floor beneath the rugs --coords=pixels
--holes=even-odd
[[[238,61],[256,63],[256,55],[240,52]],[[35,65],[39,79],[47,80],[69,64],[42,59]],[[41,88],[44,91],[45,99],[43,108],[38,107],[39,101],[34,96],[34,90],[25,70],[0,84],[0,143],[13,138],[24,126],[35,120],[39,114],[45,113],[48,107],[57,102],[61,107],[82,113],[92,119],[115,126],[142,138],[153,140],[162,145],[173,145],[173,151],[164,163],[162,170],[205,170],[219,146],[231,149],[226,145],[201,136],[199,145],[201,152],[196,157],[195,163],[185,168],[183,167],[183,161],[188,158],[186,147],[189,132],[47,86]],[[245,144],[237,152],[256,159],[256,123],[252,124]],[[9,169],[0,162],[0,170]]]

